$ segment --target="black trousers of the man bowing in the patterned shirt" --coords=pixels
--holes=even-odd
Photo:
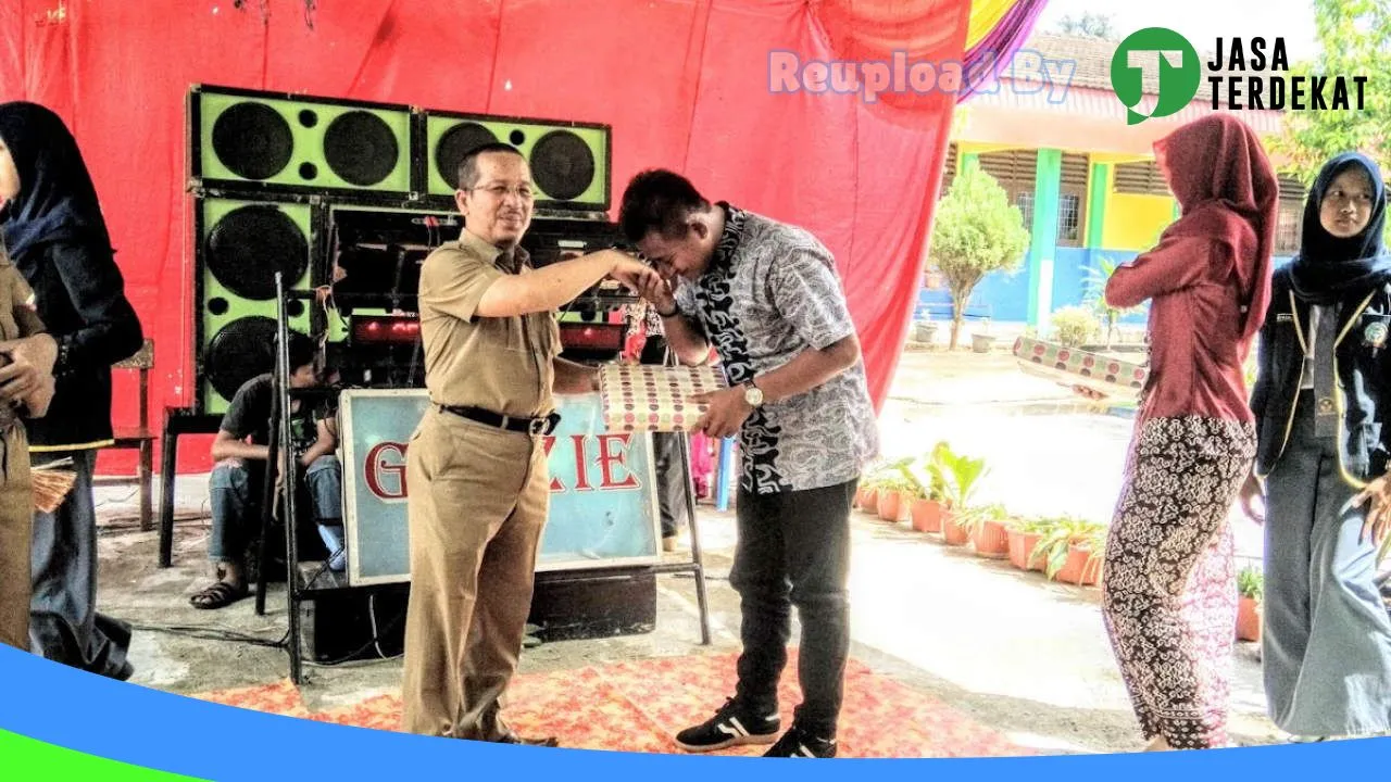
[[[858,480],[779,494],[739,490],[739,544],[729,580],[740,597],[741,704],[778,710],[778,679],[787,665],[791,607],[801,622],[797,678],[804,701],[796,722],[835,737],[846,657],[850,654],[850,506]]]

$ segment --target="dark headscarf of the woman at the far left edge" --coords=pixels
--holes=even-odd
[[[61,118],[38,103],[0,103],[0,139],[19,173],[19,195],[0,212],[10,256],[60,239],[110,249],[96,188]]]

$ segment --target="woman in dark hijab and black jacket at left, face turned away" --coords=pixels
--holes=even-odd
[[[127,679],[129,626],[96,612],[96,449],[111,444],[111,365],[143,334],[82,153],[57,114],[35,103],[0,104],[0,141],[19,192],[0,213],[10,257],[57,340],[57,391],[49,415],[26,422],[33,463],[71,458],[77,486],[53,513],[35,513],[29,641],[35,654]]]

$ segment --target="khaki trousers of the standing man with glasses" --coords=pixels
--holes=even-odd
[[[406,451],[406,487],[402,728],[499,739],[551,505],[542,438],[431,408]]]

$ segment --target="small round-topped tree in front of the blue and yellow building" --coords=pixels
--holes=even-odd
[[[1010,203],[993,177],[976,164],[967,164],[951,189],[938,202],[932,225],[929,260],[951,291],[951,349],[961,334],[971,291],[992,271],[1018,271],[1029,232],[1024,214]]]

